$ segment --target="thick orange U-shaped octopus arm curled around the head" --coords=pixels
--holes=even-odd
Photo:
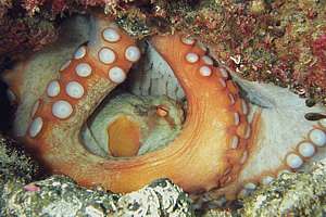
[[[141,156],[108,159],[85,149],[83,125],[140,56],[135,42],[105,17],[95,17],[92,24],[90,41],[61,67],[33,114],[26,138],[40,161],[80,184],[115,192],[137,190],[162,177],[189,192],[236,179],[247,152],[248,138],[238,133],[248,125],[244,102],[234,84],[206,64],[204,51],[179,35],[156,37],[152,43],[186,92],[183,132],[168,146]]]

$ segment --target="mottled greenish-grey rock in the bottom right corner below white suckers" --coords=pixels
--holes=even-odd
[[[324,216],[326,212],[326,162],[310,173],[284,173],[271,186],[242,201],[242,208],[210,209],[204,216]]]

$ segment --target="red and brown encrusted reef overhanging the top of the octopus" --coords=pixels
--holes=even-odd
[[[12,51],[52,41],[55,31],[47,14],[53,17],[66,11],[102,7],[138,38],[184,30],[214,44],[211,50],[215,58],[247,79],[273,81],[313,101],[323,101],[326,94],[324,1],[25,0],[12,4],[9,0],[0,4],[0,14],[7,21],[2,21],[2,26],[13,27],[3,31],[4,39],[15,39],[4,40],[9,42],[4,44],[14,43],[10,47]],[[17,5],[27,10],[22,20],[3,15],[8,8]],[[34,16],[29,17],[30,14]],[[33,29],[37,27],[35,34]],[[26,31],[18,31],[24,34],[17,37],[15,28]],[[21,40],[22,37],[26,39]],[[42,40],[38,40],[40,37]]]

